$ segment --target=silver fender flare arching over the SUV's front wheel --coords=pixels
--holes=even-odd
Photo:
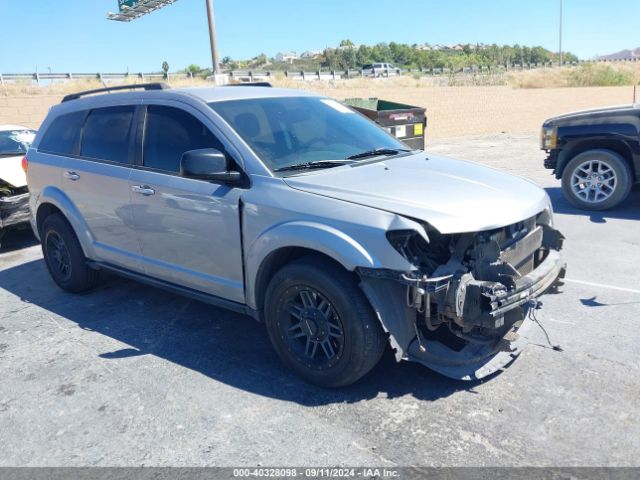
[[[349,271],[381,266],[358,241],[334,227],[309,221],[282,223],[261,233],[246,251],[246,301],[251,308],[257,308],[257,281],[264,261],[283,248],[317,251]]]

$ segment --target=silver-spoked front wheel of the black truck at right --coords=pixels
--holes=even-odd
[[[572,205],[584,210],[607,210],[631,191],[627,162],[609,150],[590,150],[574,157],[562,174],[562,190]]]

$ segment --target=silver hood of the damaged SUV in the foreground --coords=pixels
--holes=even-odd
[[[504,227],[549,205],[544,190],[520,177],[424,152],[284,180],[298,190],[422,220],[441,233]]]

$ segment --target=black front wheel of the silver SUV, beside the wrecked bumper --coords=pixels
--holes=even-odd
[[[284,363],[321,387],[349,385],[384,351],[380,323],[349,274],[319,258],[285,266],[266,292],[265,323]]]

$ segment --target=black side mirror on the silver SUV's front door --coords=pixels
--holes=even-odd
[[[180,175],[198,180],[235,183],[242,179],[242,174],[230,170],[227,156],[215,148],[189,150],[182,154]]]

